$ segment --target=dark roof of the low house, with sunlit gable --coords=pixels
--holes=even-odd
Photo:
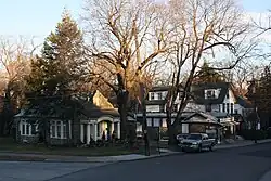
[[[44,98],[42,101],[28,105],[15,117],[70,119],[74,117],[75,106],[78,115],[85,115],[88,118],[99,118],[105,115],[119,117],[118,111],[111,106],[109,103],[98,104],[99,101],[93,100],[96,94],[99,98],[102,96],[94,92],[88,95],[75,95],[73,99],[67,100]]]

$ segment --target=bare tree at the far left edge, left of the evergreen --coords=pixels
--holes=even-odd
[[[15,41],[14,41],[15,40]],[[30,59],[38,47],[23,37],[0,38],[0,64],[2,82],[1,94],[4,96],[3,113],[0,124],[0,134],[12,124],[15,109],[23,105],[25,81],[30,70]]]

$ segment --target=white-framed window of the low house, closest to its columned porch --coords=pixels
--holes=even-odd
[[[66,139],[67,125],[63,121],[51,121],[51,138]]]

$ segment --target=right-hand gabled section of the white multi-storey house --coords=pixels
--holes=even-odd
[[[242,129],[250,106],[236,95],[231,83],[197,83],[192,86],[191,91],[194,96],[192,104],[201,107],[201,112],[217,117],[228,134],[235,134]]]

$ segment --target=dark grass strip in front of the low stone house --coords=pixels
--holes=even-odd
[[[65,156],[116,156],[127,154],[144,154],[144,147],[125,148],[122,146],[108,147],[47,147],[43,144],[18,144],[12,139],[0,138],[0,152],[42,154],[42,155],[65,155]],[[151,154],[156,154],[156,147],[151,148]]]

